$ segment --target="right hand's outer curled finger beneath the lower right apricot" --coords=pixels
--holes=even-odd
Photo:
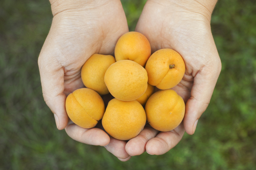
[[[161,155],[176,146],[184,135],[183,123],[169,132],[160,132],[146,144],[146,152],[152,155]]]

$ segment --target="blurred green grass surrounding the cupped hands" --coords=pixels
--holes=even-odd
[[[133,31],[146,0],[122,0]],[[57,130],[42,98],[37,57],[51,25],[47,0],[0,2],[0,169],[210,169],[256,167],[256,3],[221,0],[212,32],[222,61],[196,133],[161,156],[120,162]]]

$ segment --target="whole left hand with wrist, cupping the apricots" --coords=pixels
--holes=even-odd
[[[84,87],[80,72],[86,60],[94,53],[113,55],[118,38],[128,32],[120,0],[50,2],[52,26],[38,64],[43,98],[54,113],[57,128],[65,128],[72,139],[85,144],[109,144],[106,148],[121,159],[129,157],[124,147],[119,147],[122,141],[118,141],[117,145],[120,145],[115,147],[115,140],[110,139],[102,129],[84,129],[68,123],[65,110],[66,95]]]

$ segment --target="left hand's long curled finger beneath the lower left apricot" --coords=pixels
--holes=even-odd
[[[84,144],[106,146],[110,142],[109,135],[99,128],[85,129],[75,124],[70,124],[65,130],[70,138]]]

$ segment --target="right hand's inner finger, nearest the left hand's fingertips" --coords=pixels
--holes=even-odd
[[[125,150],[130,156],[140,155],[146,151],[146,143],[150,139],[154,138],[159,131],[145,126],[144,129],[133,139],[130,139]]]

